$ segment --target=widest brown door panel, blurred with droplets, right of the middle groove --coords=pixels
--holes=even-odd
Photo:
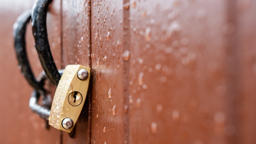
[[[226,143],[225,9],[130,3],[130,143]]]

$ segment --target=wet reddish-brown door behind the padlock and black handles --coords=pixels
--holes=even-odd
[[[29,109],[12,25],[33,2],[0,5],[0,143],[256,143],[256,1],[54,0],[58,68],[92,69],[74,138]],[[38,74],[31,26],[26,39]]]

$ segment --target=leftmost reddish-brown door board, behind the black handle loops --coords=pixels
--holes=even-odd
[[[17,16],[24,10],[31,9],[34,1],[6,1],[1,2],[0,9],[0,71],[1,71],[1,127],[0,143],[60,143],[59,131],[54,128],[45,129],[45,122],[37,114],[32,113],[29,107],[29,99],[33,89],[30,88],[26,79],[17,67],[17,59],[13,47],[12,26]],[[58,1],[52,3],[55,8],[59,7]],[[58,9],[50,10],[48,23],[59,19]],[[56,21],[58,27],[58,21]],[[53,47],[55,60],[60,51],[60,45],[56,38],[60,38],[60,29],[55,31],[49,28],[50,45]],[[53,35],[54,34],[54,35]],[[56,38],[54,38],[56,37]],[[27,52],[35,75],[42,69],[34,48],[34,39],[31,24],[26,33]],[[55,45],[54,45],[55,43]]]

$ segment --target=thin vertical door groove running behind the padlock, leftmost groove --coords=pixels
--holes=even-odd
[[[61,3],[60,3],[60,5],[61,5],[61,69],[63,69],[63,15],[62,15],[62,11],[63,11],[63,9],[62,9],[62,0],[61,0]],[[61,131],[60,132],[60,139],[61,139],[61,141],[60,141],[60,143],[62,144],[63,143],[63,132]]]

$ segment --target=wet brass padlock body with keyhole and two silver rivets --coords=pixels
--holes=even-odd
[[[87,71],[85,74],[88,76],[85,80],[80,80],[80,70]],[[66,66],[52,101],[49,125],[61,131],[72,131],[86,100],[90,70],[80,64]]]

